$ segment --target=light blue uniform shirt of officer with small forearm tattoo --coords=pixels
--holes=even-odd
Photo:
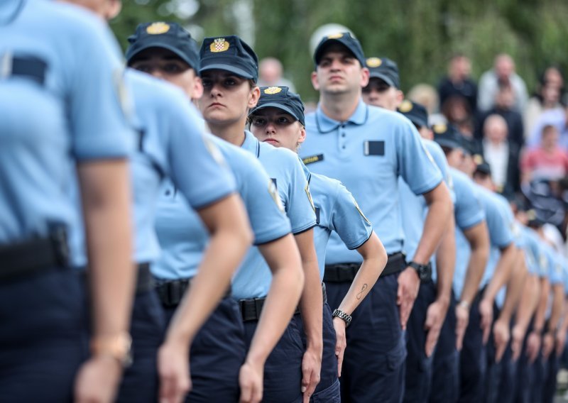
[[[320,280],[323,281],[325,252],[332,232],[339,235],[348,249],[357,249],[371,237],[373,227],[341,182],[312,174],[305,165],[302,166],[315,206],[317,226],[314,228],[314,244]]]

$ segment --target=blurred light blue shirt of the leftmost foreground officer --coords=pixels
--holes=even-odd
[[[126,158],[132,146],[122,70],[116,40],[92,13],[0,1],[0,244],[47,236],[50,223],[80,231],[75,163]]]

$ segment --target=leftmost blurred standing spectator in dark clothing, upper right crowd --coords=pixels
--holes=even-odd
[[[471,62],[465,55],[457,54],[449,61],[448,75],[438,84],[439,103],[451,96],[462,96],[470,111],[477,110],[477,84],[471,79]]]

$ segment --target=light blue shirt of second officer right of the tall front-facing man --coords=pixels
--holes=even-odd
[[[485,219],[485,211],[477,195],[476,184],[463,172],[449,168],[455,194],[454,217],[456,220],[456,265],[453,288],[457,299],[461,296],[471,258],[469,241],[463,231],[479,225]]]

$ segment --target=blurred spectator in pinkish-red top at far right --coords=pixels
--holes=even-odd
[[[523,183],[558,181],[568,175],[568,154],[558,145],[558,129],[552,125],[545,126],[540,138],[540,147],[529,149],[523,155]]]

